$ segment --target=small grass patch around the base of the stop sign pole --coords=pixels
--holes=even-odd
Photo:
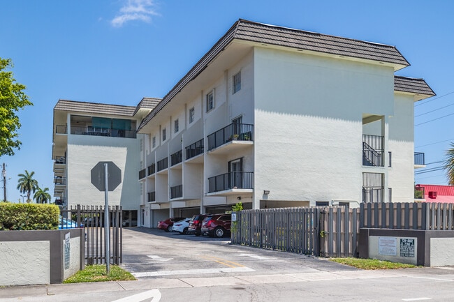
[[[87,265],[82,271],[78,271],[70,278],[64,280],[64,283],[81,283],[81,282],[103,282],[103,281],[125,281],[136,280],[129,271],[125,271],[117,265],[110,265],[110,273],[107,274],[105,264]]]

